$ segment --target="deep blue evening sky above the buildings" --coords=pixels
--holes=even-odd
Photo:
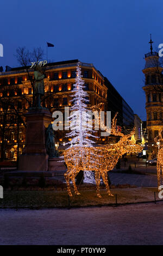
[[[41,46],[46,52],[46,41],[51,42],[55,47],[48,48],[48,58],[93,63],[146,119],[143,57],[150,33],[154,49],[163,43],[162,0],[10,0],[1,2],[0,10],[0,66],[18,66],[18,46]]]

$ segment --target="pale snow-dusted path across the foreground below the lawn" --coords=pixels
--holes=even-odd
[[[1,209],[0,245],[163,245],[162,208]]]

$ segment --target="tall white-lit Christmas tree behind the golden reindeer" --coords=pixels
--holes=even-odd
[[[91,134],[93,132],[92,126],[89,125],[89,119],[91,116],[89,113],[87,113],[86,105],[86,102],[89,102],[89,100],[87,100],[88,94],[84,88],[85,86],[82,78],[82,71],[78,63],[76,71],[76,83],[73,84],[73,94],[71,95],[73,97],[71,100],[73,106],[70,108],[72,112],[69,118],[69,127],[71,132],[66,135],[66,137],[71,138],[71,142],[67,143],[71,144],[70,147],[92,147],[92,143],[95,143],[90,139],[90,137],[96,138],[96,136]],[[92,175],[88,172],[84,172],[84,181],[92,182]]]

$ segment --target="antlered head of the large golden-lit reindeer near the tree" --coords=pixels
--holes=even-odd
[[[128,135],[124,135],[122,132],[116,130],[117,114],[118,114],[118,112],[115,114],[114,118],[112,119],[111,134],[121,137],[120,141],[118,141],[118,143],[116,143],[117,148],[119,148],[121,151],[121,155],[123,155],[125,153],[141,152],[143,147],[135,144],[133,141],[130,140],[130,137],[132,135],[134,135],[134,133],[135,133],[135,128]]]

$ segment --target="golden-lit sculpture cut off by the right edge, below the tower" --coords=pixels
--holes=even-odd
[[[161,171],[163,171],[163,138],[162,130],[159,131],[159,135],[154,138],[154,141],[158,145],[158,156],[157,156],[157,176],[158,176],[158,190],[160,191],[161,185]],[[163,176],[163,173],[162,173]]]

